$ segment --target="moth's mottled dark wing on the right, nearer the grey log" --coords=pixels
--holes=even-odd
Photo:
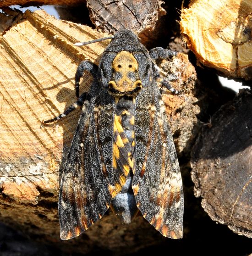
[[[132,189],[137,207],[161,234],[183,236],[183,189],[174,142],[156,83],[138,95],[136,172]]]

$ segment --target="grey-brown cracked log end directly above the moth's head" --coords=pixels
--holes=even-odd
[[[166,14],[162,3],[160,0],[87,0],[90,18],[96,28],[112,34],[121,28],[129,28],[145,45],[159,37],[161,17]]]

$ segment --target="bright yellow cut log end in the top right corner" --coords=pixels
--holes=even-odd
[[[252,1],[192,0],[181,33],[197,59],[230,78],[252,79]]]

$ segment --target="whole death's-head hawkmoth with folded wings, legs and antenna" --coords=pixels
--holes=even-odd
[[[71,239],[97,222],[110,207],[128,224],[140,211],[161,234],[183,236],[183,189],[175,145],[164,102],[156,81],[177,94],[161,79],[155,61],[176,53],[163,48],[148,52],[127,29],[113,37],[99,66],[82,61],[77,67],[77,124],[60,184],[60,238]],[[84,71],[93,76],[88,93],[79,96]]]

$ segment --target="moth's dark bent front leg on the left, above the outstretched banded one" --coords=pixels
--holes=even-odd
[[[90,72],[94,79],[97,78],[98,66],[91,61],[82,61],[75,74],[75,94],[77,98],[79,98],[80,79],[85,70]]]

